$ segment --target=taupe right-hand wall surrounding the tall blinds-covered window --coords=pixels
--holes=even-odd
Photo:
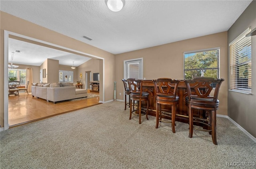
[[[256,1],[253,0],[228,30],[228,44],[251,26],[256,28]],[[256,138],[256,35],[252,36],[252,94],[228,91],[228,116]]]

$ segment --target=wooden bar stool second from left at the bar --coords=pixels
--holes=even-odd
[[[139,116],[139,124],[141,124],[141,116],[146,115],[146,118],[148,120],[148,106],[149,106],[149,93],[148,92],[142,92],[142,83],[143,80],[139,79],[127,79],[126,80],[129,85],[130,89],[130,105],[132,105],[132,101],[137,102],[137,108],[134,110],[134,106],[130,107],[130,118],[132,118],[132,114]],[[147,108],[146,110],[142,108],[141,103],[142,101],[147,102]],[[133,107],[133,110],[132,110]]]

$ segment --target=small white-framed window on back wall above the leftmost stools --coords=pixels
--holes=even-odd
[[[142,79],[142,59],[124,61],[125,64],[125,79],[135,78]]]

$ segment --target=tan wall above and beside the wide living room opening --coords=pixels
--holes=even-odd
[[[67,37],[62,35],[61,33],[57,33],[50,29],[46,29],[42,26],[38,26],[33,24],[32,22],[28,22],[26,20],[20,19],[18,17],[12,16],[5,12],[0,12],[0,125],[4,127],[4,30],[18,33],[20,35],[25,35],[28,37],[32,37],[35,39],[39,39],[42,41],[46,41],[48,43],[56,44],[62,47],[66,47],[69,49],[73,49],[76,51],[80,51],[83,53],[88,53],[90,55],[95,55],[101,58],[104,58],[106,61],[105,69],[105,88],[111,87],[114,88],[114,84],[112,83],[115,80],[115,69],[113,67],[114,55],[112,53],[106,52],[102,49],[98,49],[71,37]],[[101,86],[102,87],[102,86]],[[100,89],[102,90],[102,88]],[[100,101],[108,101],[113,99],[113,91],[105,90],[105,97],[103,98],[103,94],[100,95]],[[8,100],[6,100],[8,101]]]

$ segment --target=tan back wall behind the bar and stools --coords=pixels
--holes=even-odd
[[[124,60],[142,57],[143,77],[147,80],[160,77],[184,79],[183,53],[185,51],[214,47],[220,47],[220,78],[225,79],[219,92],[220,106],[217,113],[228,115],[228,51],[226,31],[116,55],[117,99],[124,100],[124,85],[121,81],[124,78]],[[122,93],[122,96],[119,93]]]

